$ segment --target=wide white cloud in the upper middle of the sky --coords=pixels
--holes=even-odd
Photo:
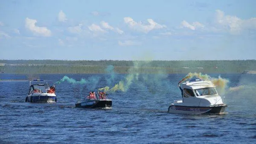
[[[140,32],[144,32],[144,33],[148,33],[153,29],[166,28],[165,25],[160,25],[160,24],[154,22],[154,20],[152,20],[152,19],[147,20],[149,24],[143,24],[142,22],[136,22],[131,17],[125,17],[124,21],[125,21],[125,23],[128,24],[128,26],[130,28],[140,31]]]

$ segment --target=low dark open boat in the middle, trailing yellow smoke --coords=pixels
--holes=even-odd
[[[84,99],[76,102],[76,107],[82,108],[112,108],[112,100],[109,99],[105,92],[90,92]]]

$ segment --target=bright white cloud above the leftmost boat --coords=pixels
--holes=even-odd
[[[44,37],[51,36],[51,31],[47,29],[47,27],[35,26],[35,23],[37,23],[37,20],[29,19],[28,17],[26,17],[26,20],[25,20],[26,29],[29,29],[35,35],[42,35]]]

